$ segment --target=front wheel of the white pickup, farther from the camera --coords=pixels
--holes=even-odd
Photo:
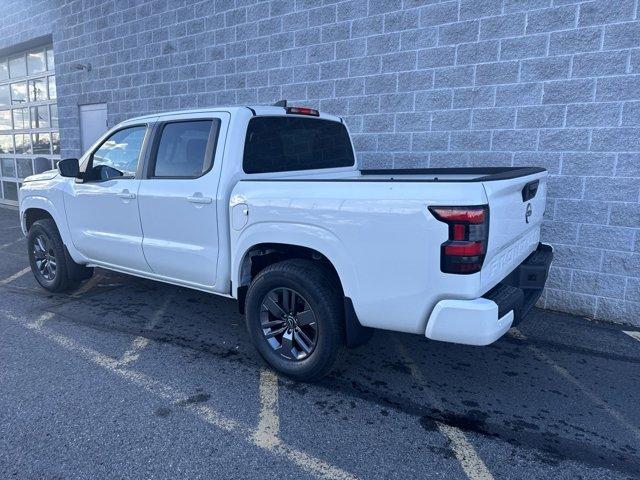
[[[34,222],[27,235],[29,264],[37,282],[50,292],[65,292],[89,278],[93,269],[71,260],[55,222],[45,218]]]

